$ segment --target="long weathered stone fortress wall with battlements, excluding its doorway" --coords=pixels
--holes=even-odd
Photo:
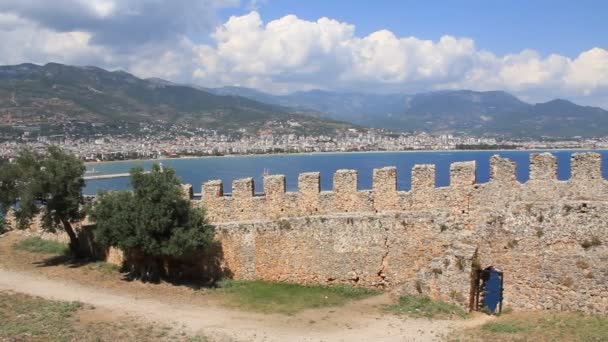
[[[382,287],[468,307],[473,269],[493,265],[508,307],[608,313],[608,181],[599,154],[573,154],[571,168],[557,180],[555,157],[533,154],[519,183],[515,164],[494,156],[489,182],[458,162],[436,188],[434,166],[416,165],[407,192],[394,167],[374,170],[364,191],[354,170],[338,170],[333,191],[320,191],[319,173],[301,174],[298,192],[267,176],[263,195],[252,178],[231,195],[210,181],[194,203],[237,279]]]

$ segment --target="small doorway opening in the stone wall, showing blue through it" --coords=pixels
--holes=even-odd
[[[474,273],[472,311],[498,314],[502,311],[504,274],[493,266]]]

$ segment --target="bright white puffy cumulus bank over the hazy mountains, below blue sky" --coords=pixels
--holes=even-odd
[[[232,17],[196,48],[194,77],[206,85],[241,84],[270,91],[322,88],[425,91],[502,89],[545,100],[566,96],[608,105],[608,51],[571,59],[524,50],[505,56],[470,38],[439,41],[380,30],[364,37],[348,23],[285,16],[264,23],[257,12]]]

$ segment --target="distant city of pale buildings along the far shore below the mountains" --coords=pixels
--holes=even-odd
[[[45,134],[44,132],[53,134]],[[602,149],[604,138],[496,138],[468,134],[395,133],[382,129],[351,128],[338,135],[277,134],[272,129],[251,134],[246,129],[232,133],[181,126],[137,124],[116,127],[115,133],[87,135],[82,129],[44,130],[37,126],[14,127],[0,133],[0,157],[12,158],[23,147],[43,151],[58,145],[84,161],[180,158],[273,153],[316,153],[355,151],[411,150],[486,150],[486,149]],[[136,132],[136,133],[134,133]]]

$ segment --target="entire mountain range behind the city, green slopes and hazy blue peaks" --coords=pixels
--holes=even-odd
[[[608,135],[608,111],[556,99],[526,103],[503,91],[419,94],[323,90],[273,95],[202,88],[124,71],[57,63],[0,66],[0,124],[162,122],[219,131],[332,134],[354,127],[510,137]]]

